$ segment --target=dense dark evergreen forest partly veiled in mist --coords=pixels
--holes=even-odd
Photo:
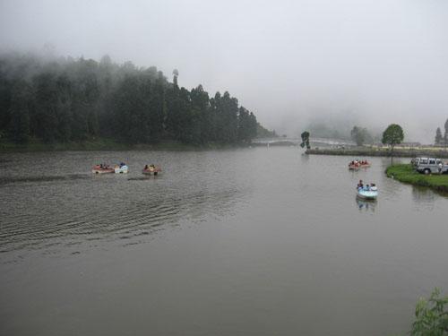
[[[256,117],[226,91],[186,90],[156,67],[61,57],[0,56],[0,141],[250,142]]]

